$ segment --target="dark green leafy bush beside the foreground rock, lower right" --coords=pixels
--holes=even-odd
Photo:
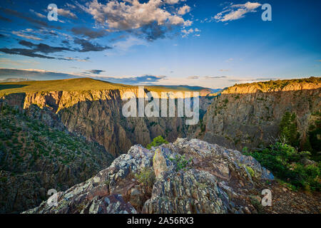
[[[303,165],[302,158],[309,158],[310,152],[297,150],[287,144],[276,142],[262,151],[246,153],[272,171],[276,177],[299,188],[320,191],[320,165]]]

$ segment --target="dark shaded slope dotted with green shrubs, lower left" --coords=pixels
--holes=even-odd
[[[55,118],[47,108],[22,112],[0,103],[0,213],[36,207],[49,190],[67,190],[111,164],[101,145]]]

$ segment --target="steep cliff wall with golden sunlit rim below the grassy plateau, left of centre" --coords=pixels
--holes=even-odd
[[[127,152],[131,145],[146,146],[158,135],[170,142],[186,137],[185,118],[123,117],[122,108],[127,102],[123,98],[128,92],[139,98],[138,89],[119,89],[16,93],[3,99],[21,110],[32,105],[51,110],[70,132],[98,142],[113,155]],[[210,102],[210,99],[201,98],[201,116]]]

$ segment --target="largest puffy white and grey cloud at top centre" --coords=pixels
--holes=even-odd
[[[93,0],[86,6],[78,6],[93,16],[96,23],[112,31],[131,31],[140,29],[148,41],[164,38],[165,33],[173,26],[187,26],[182,15],[190,11],[190,6],[175,8],[175,4],[185,0],[149,0],[141,3],[138,0],[111,0],[101,4]],[[170,11],[167,5],[173,5]],[[136,31],[136,34],[140,34]]]

